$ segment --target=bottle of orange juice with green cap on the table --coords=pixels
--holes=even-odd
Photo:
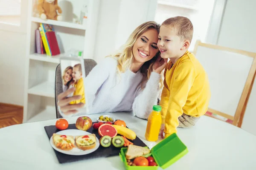
[[[162,122],[161,113],[160,113],[161,110],[162,108],[160,105],[154,105],[153,111],[148,116],[148,124],[147,124],[146,133],[145,133],[145,138],[148,141],[157,141],[158,139],[158,134],[159,134],[161,122]]]

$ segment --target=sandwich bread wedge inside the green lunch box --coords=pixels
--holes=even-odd
[[[137,146],[134,144],[129,144],[127,152],[125,154],[125,158],[134,159],[136,157],[143,156],[148,153],[150,153],[150,150],[148,148]]]

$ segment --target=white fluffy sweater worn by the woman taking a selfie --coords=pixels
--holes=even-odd
[[[128,69],[119,74],[116,66],[116,59],[106,57],[85,78],[84,88],[89,108],[86,114],[133,111],[137,117],[147,119],[153,105],[157,104],[161,75],[152,72],[142,89],[143,76],[140,71],[133,73]],[[63,113],[61,116],[67,117]]]

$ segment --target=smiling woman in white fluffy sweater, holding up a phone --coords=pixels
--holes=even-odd
[[[122,50],[106,57],[85,79],[85,94],[89,114],[134,111],[140,118],[148,118],[162,83],[161,72],[167,65],[157,48],[159,25],[149,21],[138,26]],[[67,98],[74,89],[58,96],[61,115],[78,115],[84,104],[68,105],[81,98]],[[80,114],[80,113],[79,113]]]

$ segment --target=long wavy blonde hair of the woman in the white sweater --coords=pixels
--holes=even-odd
[[[133,47],[136,42],[136,40],[145,32],[148,31],[149,29],[156,29],[157,32],[159,33],[159,28],[160,25],[157,24],[154,21],[148,21],[140,26],[138,26],[129,36],[128,40],[126,43],[121,47],[121,51],[116,52],[115,54],[107,57],[114,57],[117,58],[118,64],[116,66],[117,71],[119,74],[124,73],[127,68],[131,68],[131,65],[133,63],[134,57],[133,57]],[[157,58],[160,56],[160,51],[157,52],[157,54],[147,62],[145,62],[142,67],[140,68],[140,72],[143,75],[143,81],[141,82],[141,87],[144,88],[144,82],[146,82],[150,75],[151,72],[153,71],[153,64],[157,61]],[[163,85],[163,80],[160,80],[160,87]]]

